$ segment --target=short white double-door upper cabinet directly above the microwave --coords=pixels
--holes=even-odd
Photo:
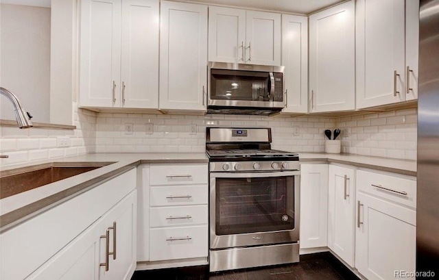
[[[281,65],[281,14],[209,7],[209,61]]]

